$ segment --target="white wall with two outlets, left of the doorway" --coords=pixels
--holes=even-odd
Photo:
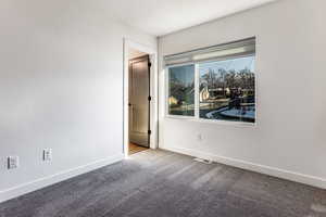
[[[1,1],[0,201],[123,157],[123,38],[156,39],[98,2]]]

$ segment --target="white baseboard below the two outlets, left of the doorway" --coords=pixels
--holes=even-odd
[[[124,154],[117,154],[114,156],[110,156],[108,158],[104,159],[100,159],[97,162],[92,162],[90,164],[84,165],[84,166],[79,166],[79,167],[75,167],[73,169],[68,169],[68,170],[64,170],[62,173],[52,175],[52,176],[48,176],[48,177],[43,177],[27,183],[23,183],[10,189],[7,189],[4,191],[0,191],[0,203],[24,195],[26,193],[42,189],[45,187],[58,183],[60,181],[73,178],[75,176],[82,175],[82,174],[86,174],[88,171],[98,169],[100,167],[110,165],[110,164],[114,164],[116,162],[120,162],[124,158]]]

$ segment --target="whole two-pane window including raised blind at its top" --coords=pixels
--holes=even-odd
[[[255,123],[255,39],[164,58],[168,115]]]

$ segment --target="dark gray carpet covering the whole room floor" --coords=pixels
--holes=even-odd
[[[326,191],[148,150],[0,204],[1,217],[326,217]]]

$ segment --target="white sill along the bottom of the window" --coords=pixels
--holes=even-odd
[[[221,119],[203,119],[197,117],[176,116],[176,115],[166,115],[164,118],[203,123],[203,124],[223,125],[223,126],[234,126],[234,127],[256,127],[256,123],[227,122]]]

